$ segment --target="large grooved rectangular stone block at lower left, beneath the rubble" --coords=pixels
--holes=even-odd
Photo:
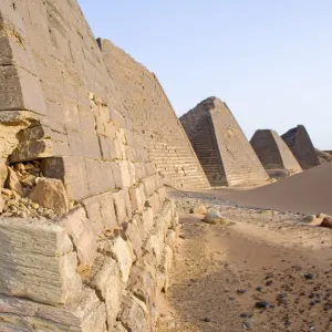
[[[81,290],[76,255],[64,230],[42,220],[0,220],[0,292],[59,304]]]

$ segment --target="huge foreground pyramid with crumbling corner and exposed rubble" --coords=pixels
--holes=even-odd
[[[151,331],[178,218],[76,1],[2,0],[0,43],[0,330]]]

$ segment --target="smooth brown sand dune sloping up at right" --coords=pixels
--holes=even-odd
[[[282,211],[332,215],[332,163],[247,191],[222,191],[237,204]]]

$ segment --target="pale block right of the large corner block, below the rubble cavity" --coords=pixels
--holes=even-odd
[[[92,267],[96,257],[97,245],[96,235],[92,221],[86,218],[83,207],[79,207],[59,221],[68,235],[71,237],[79,261],[84,267]]]

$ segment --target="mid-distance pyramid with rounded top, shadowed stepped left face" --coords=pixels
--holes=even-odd
[[[180,117],[211,186],[262,183],[268,175],[227,105],[209,97]]]

